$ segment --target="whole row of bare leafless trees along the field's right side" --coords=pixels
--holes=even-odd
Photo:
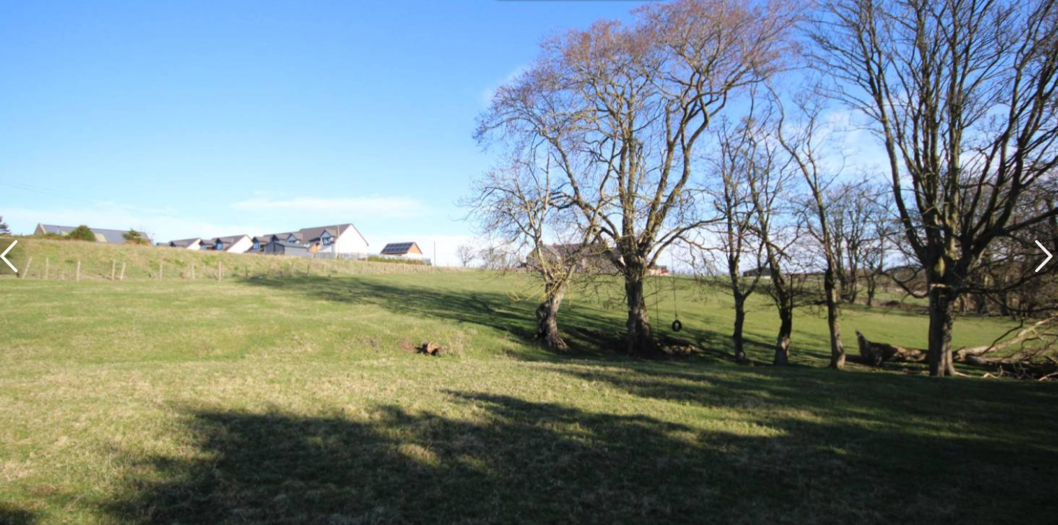
[[[496,90],[475,138],[500,162],[463,204],[540,276],[554,350],[565,290],[604,258],[625,351],[656,356],[644,280],[678,250],[733,297],[738,359],[762,293],[774,363],[814,304],[842,369],[841,305],[873,303],[886,279],[928,300],[929,371],[952,375],[960,305],[1058,302],[1025,293],[1055,281],[1033,261],[1037,240],[1058,249],[1056,23],[1055,0],[639,7],[544,40]]]

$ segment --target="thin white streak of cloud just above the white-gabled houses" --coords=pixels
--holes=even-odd
[[[239,211],[332,211],[343,213],[363,213],[384,218],[409,218],[420,215],[425,211],[425,207],[418,200],[403,196],[295,196],[292,199],[254,198],[232,203],[232,209]]]

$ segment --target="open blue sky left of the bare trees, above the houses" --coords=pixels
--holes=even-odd
[[[443,263],[491,164],[471,138],[490,90],[636,5],[3,2],[0,215],[160,241],[352,222]]]

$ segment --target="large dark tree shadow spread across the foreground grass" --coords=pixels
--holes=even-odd
[[[1053,448],[924,432],[906,426],[904,406],[868,402],[868,415],[798,383],[607,374],[586,378],[665,399],[676,388],[715,407],[730,407],[717,395],[800,405],[727,414],[730,426],[710,430],[457,391],[438,395],[461,416],[186,410],[193,458],[126,460],[126,496],[107,510],[140,524],[1032,523],[1054,510]],[[815,381],[835,388],[832,377]]]

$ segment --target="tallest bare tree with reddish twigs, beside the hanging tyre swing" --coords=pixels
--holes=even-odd
[[[677,0],[637,10],[628,27],[600,21],[571,31],[547,41],[481,119],[478,137],[518,128],[547,140],[568,179],[566,198],[598,218],[595,240],[624,280],[630,354],[659,353],[649,269],[709,223],[689,187],[699,138],[732,96],[779,68],[791,11],[779,0]]]

